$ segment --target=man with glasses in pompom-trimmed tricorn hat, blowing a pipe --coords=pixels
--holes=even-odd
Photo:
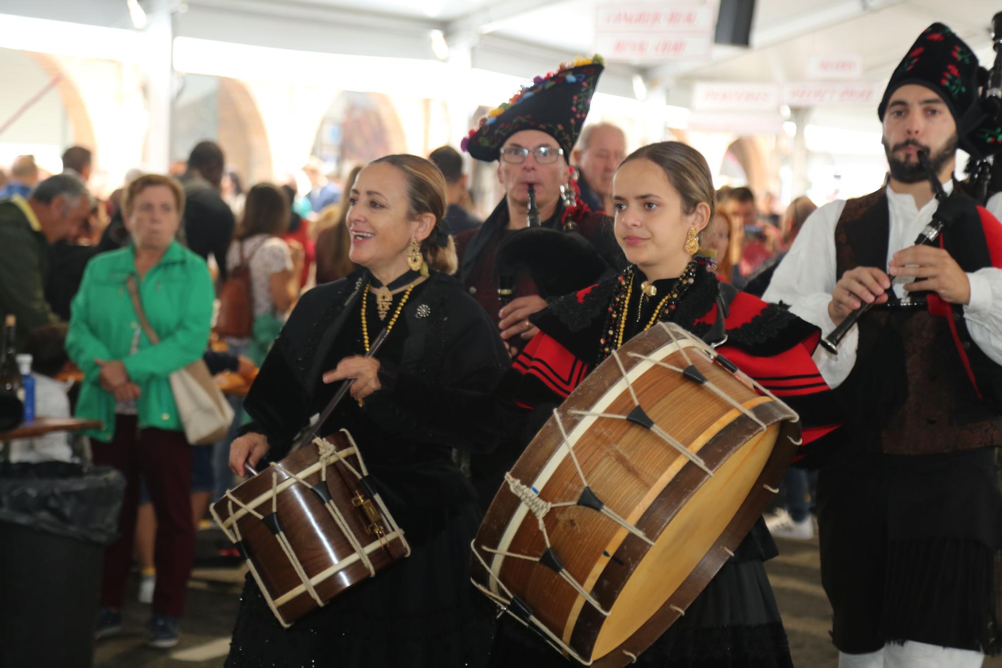
[[[623,262],[611,225],[580,200],[568,206],[568,159],[591,106],[603,69],[600,56],[561,65],[537,76],[470,131],[462,147],[478,160],[498,162],[505,198],[478,230],[456,239],[460,278],[467,290],[499,320],[501,336],[514,349],[536,333],[528,316],[557,297],[591,285],[608,265]],[[529,188],[535,194],[540,234],[513,239],[527,227]],[[502,243],[514,242],[503,254]],[[510,265],[507,267],[505,265]],[[502,308],[498,273],[514,274],[514,294]],[[552,293],[552,294],[547,294]]]

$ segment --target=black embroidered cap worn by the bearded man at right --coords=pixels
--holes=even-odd
[[[978,98],[978,58],[950,28],[933,23],[919,35],[891,75],[877,107],[881,121],[891,95],[909,83],[925,86],[942,97],[959,127],[964,114]]]

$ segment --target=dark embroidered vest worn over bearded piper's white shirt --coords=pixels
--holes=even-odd
[[[889,235],[883,188],[847,201],[835,228],[837,277],[855,267],[886,268]],[[947,235],[944,244],[951,251]],[[963,348],[976,348],[963,324],[963,308],[954,306],[952,317]],[[1002,418],[978,397],[950,325],[924,306],[877,307],[860,318],[856,365],[839,388],[855,445],[889,454],[930,454],[1002,443]]]

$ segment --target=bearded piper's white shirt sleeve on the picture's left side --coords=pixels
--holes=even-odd
[[[829,203],[813,213],[794,241],[790,253],[776,268],[773,281],[763,295],[767,302],[783,302],[790,312],[821,329],[828,336],[835,323],[828,315],[832,290],[836,284],[835,226],[842,216],[843,200]],[[831,387],[842,384],[856,364],[859,330],[853,327],[839,344],[839,354],[833,355],[821,346],[815,350],[814,361]]]

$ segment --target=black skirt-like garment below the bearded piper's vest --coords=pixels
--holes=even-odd
[[[819,475],[818,524],[841,651],[908,640],[1002,649],[1002,493],[991,449],[846,457]]]

